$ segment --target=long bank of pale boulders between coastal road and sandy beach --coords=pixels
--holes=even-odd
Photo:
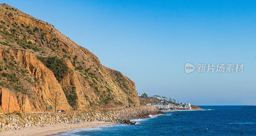
[[[118,110],[91,110],[64,113],[33,113],[0,115],[0,132],[19,130],[32,126],[52,124],[74,124],[81,122],[105,121],[112,123],[135,124],[130,119],[148,118],[149,115],[164,114],[155,107],[139,106]]]

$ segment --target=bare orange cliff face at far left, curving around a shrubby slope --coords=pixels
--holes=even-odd
[[[5,53],[6,51],[9,51],[9,53]],[[25,102],[24,99],[28,100],[26,102],[27,107],[32,107],[32,111],[41,111],[42,109],[46,109],[48,107],[54,107],[55,106],[55,98],[56,98],[56,93],[58,95],[57,100],[58,100],[58,105],[61,105],[61,109],[65,110],[70,110],[71,107],[69,106],[67,99],[65,97],[65,94],[54,77],[54,74],[52,73],[51,70],[49,70],[47,67],[44,66],[44,64],[38,60],[32,53],[27,52],[26,50],[21,50],[21,49],[13,49],[13,48],[8,48],[8,50],[5,50],[4,48],[0,48],[0,54],[3,54],[4,57],[8,56],[13,56],[13,60],[17,60],[18,62],[21,62],[26,70],[28,70],[29,74],[32,75],[33,77],[37,78],[36,84],[32,88],[29,88],[30,90],[27,92],[28,94],[32,94],[33,96],[36,97],[36,99],[31,100],[29,102],[28,96],[24,95],[15,95],[14,93],[19,93],[19,91],[11,90],[11,96],[13,98],[10,100],[14,105],[18,103],[18,105],[15,105],[15,108],[11,109],[9,108],[9,111],[17,111],[17,112],[24,112],[24,106]],[[6,112],[6,94],[9,92],[3,91],[5,90],[4,88],[1,88],[2,93],[2,110]],[[25,93],[25,92],[24,92]],[[14,99],[16,98],[16,99]],[[17,100],[18,99],[18,100]],[[19,102],[20,101],[22,102]],[[46,105],[45,105],[45,104]],[[3,107],[4,106],[4,107]],[[57,107],[58,108],[58,107]],[[26,111],[26,109],[25,109]],[[30,111],[30,109],[29,109]]]

